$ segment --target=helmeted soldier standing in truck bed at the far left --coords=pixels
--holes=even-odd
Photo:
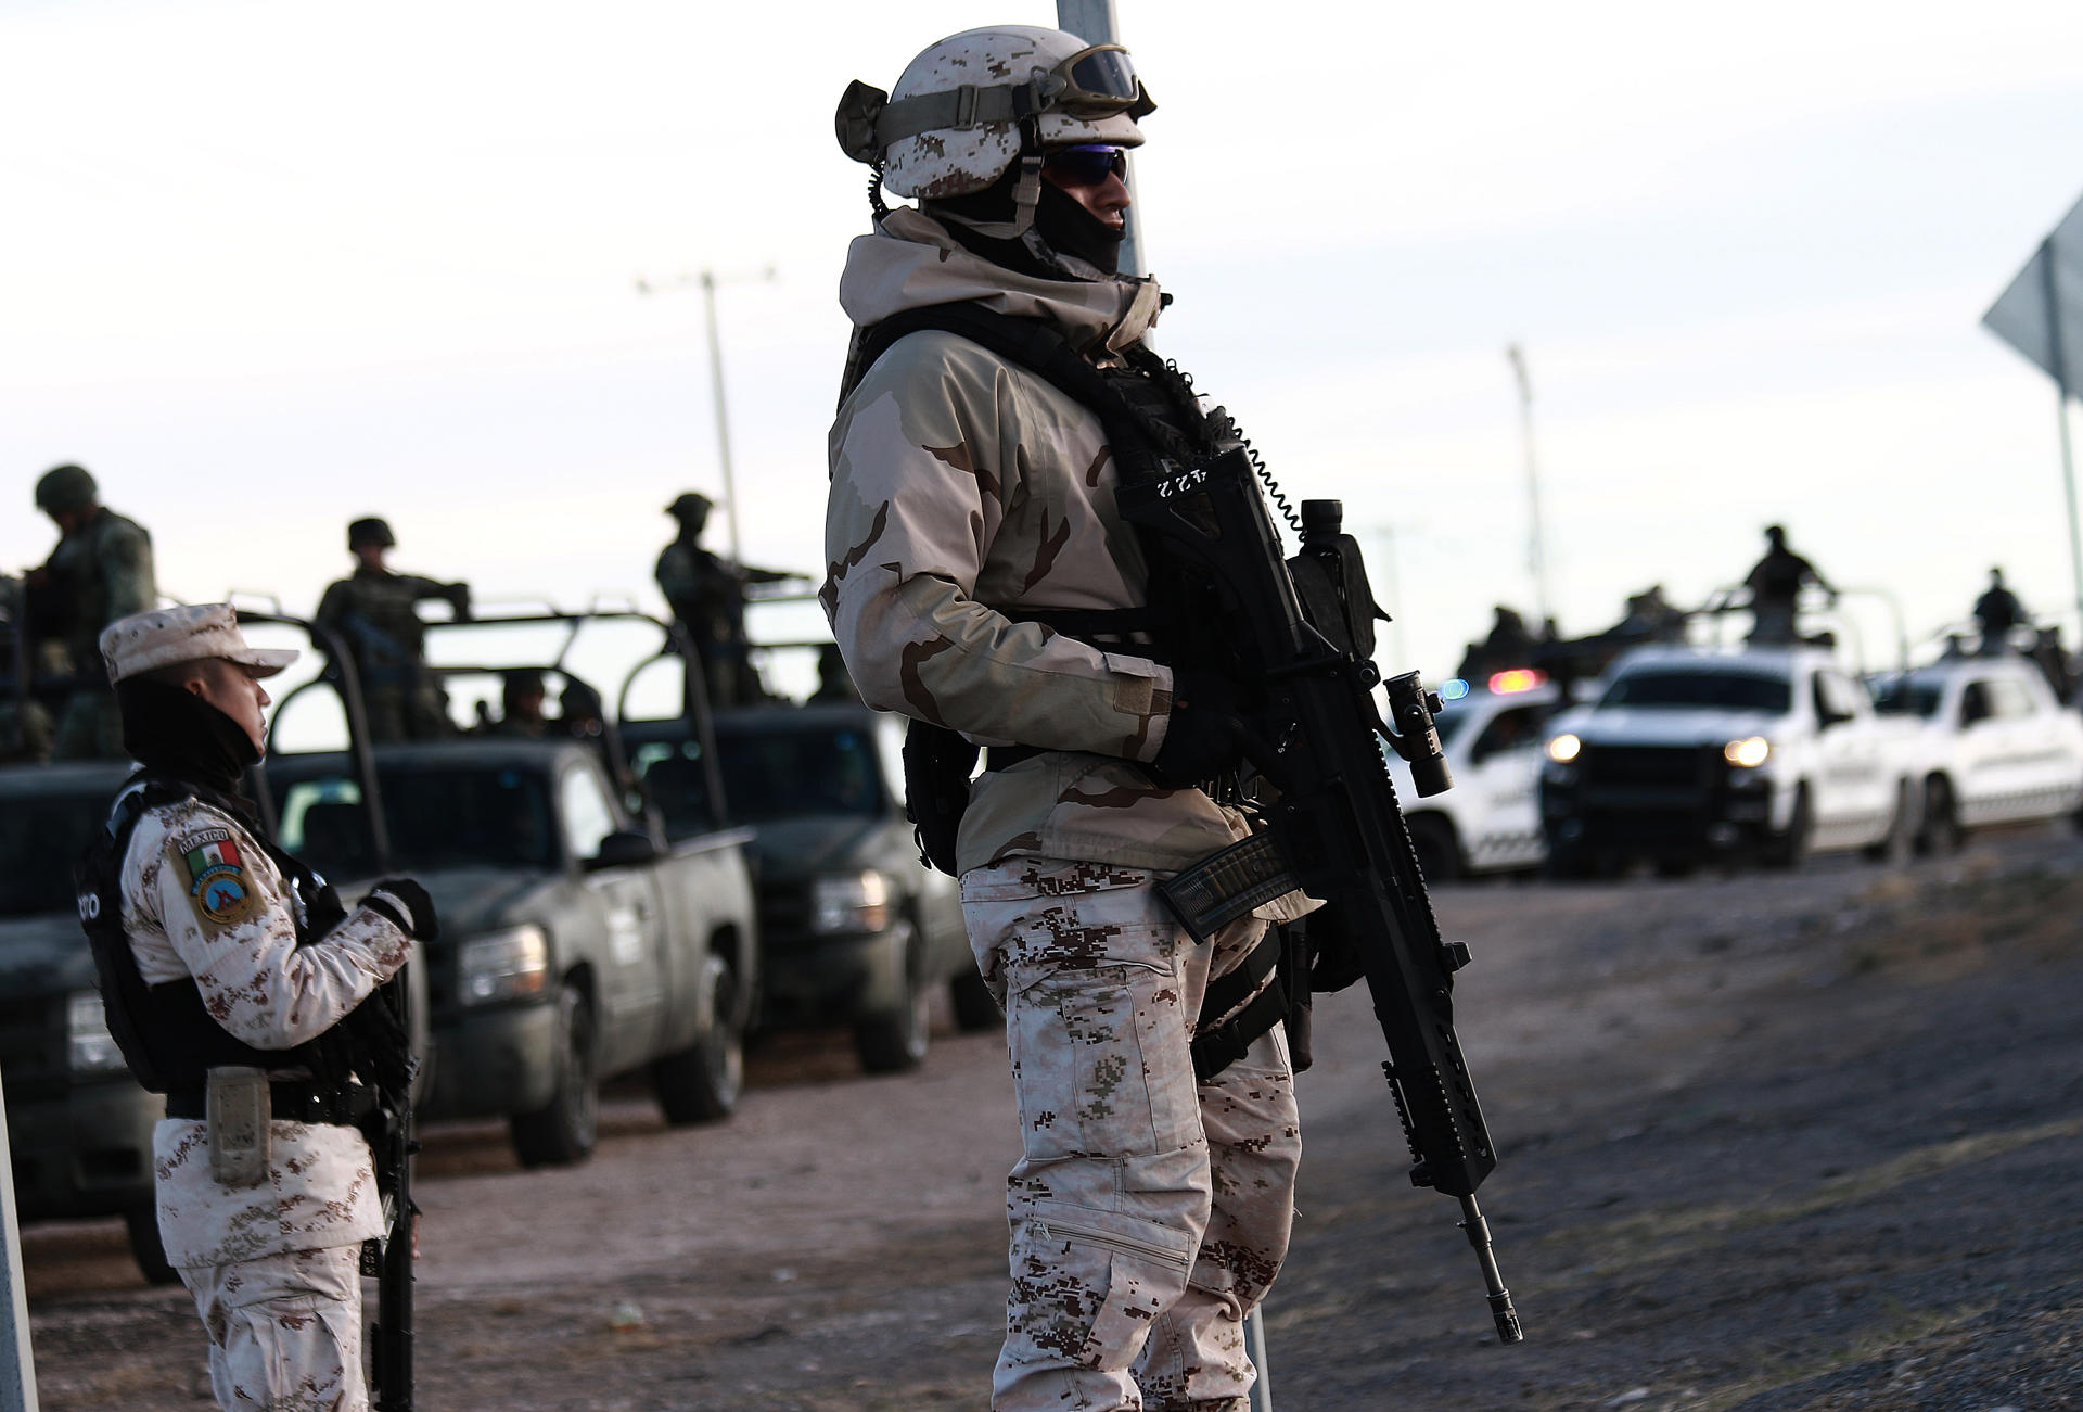
[[[58,548],[27,577],[27,627],[42,637],[37,666],[69,675],[52,754],[60,760],[123,754],[123,725],[102,679],[96,637],[117,619],[158,602],[152,535],[108,510],[83,467],[52,467],[35,483],[35,508],[58,527]]]

